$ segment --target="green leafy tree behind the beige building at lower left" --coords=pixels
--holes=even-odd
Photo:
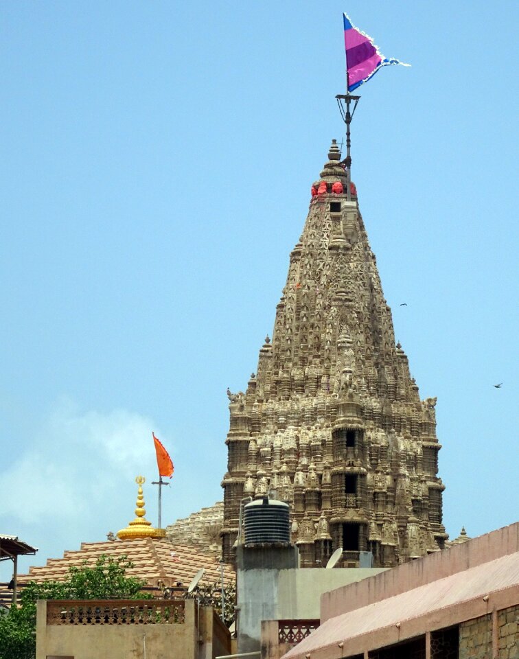
[[[34,659],[38,599],[150,599],[145,581],[126,577],[133,564],[126,556],[100,556],[95,564],[71,566],[65,581],[30,581],[21,591],[21,606],[0,616],[0,659]]]

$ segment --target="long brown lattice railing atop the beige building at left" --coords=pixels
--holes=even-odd
[[[47,601],[47,625],[173,625],[184,619],[183,600]]]

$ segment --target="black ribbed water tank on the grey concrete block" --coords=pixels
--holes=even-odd
[[[245,508],[245,546],[290,544],[289,507],[275,499],[257,499]]]

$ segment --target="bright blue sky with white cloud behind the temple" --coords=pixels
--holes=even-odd
[[[152,430],[163,520],[222,498],[225,390],[343,134],[343,11],[413,65],[360,88],[352,177],[438,397],[444,523],[517,520],[518,3],[21,1],[0,7],[0,531],[40,548],[22,570],[126,526]]]

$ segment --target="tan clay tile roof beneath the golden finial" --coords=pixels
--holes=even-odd
[[[162,584],[175,586],[177,581],[187,587],[200,568],[205,569],[200,583],[220,581],[220,564],[214,553],[146,537],[137,540],[84,542],[78,551],[66,551],[60,559],[48,559],[47,565],[30,568],[27,575],[19,575],[19,583],[23,586],[27,581],[60,581],[67,577],[70,566],[80,566],[85,560],[93,563],[103,554],[108,557],[126,555],[134,564],[128,570],[128,575],[145,579],[147,585],[153,588]],[[224,579],[227,583],[235,581],[234,572],[227,565],[224,566]]]

